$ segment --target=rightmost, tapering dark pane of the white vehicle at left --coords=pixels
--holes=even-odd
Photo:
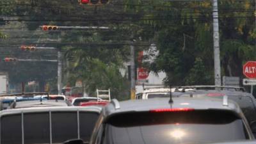
[[[80,119],[80,137],[84,141],[89,141],[92,135],[93,127],[99,117],[98,113],[79,113]]]

